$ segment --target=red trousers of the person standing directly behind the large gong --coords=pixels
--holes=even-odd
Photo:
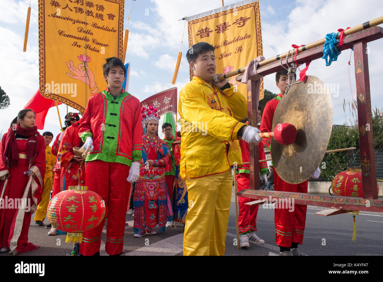
[[[274,190],[284,192],[307,193],[308,180],[300,184],[283,181],[274,167]],[[290,199],[288,199],[290,200]],[[291,247],[291,243],[302,244],[306,225],[307,205],[292,205],[292,208],[278,208],[275,204],[275,241],[278,246]]]

